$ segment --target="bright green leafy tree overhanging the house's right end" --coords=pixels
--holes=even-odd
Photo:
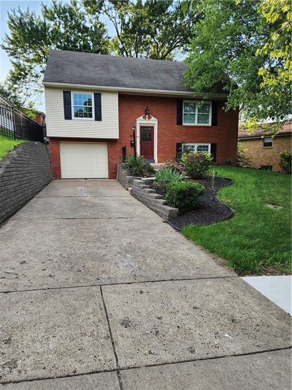
[[[250,125],[286,119],[291,113],[289,1],[201,0],[194,5],[201,19],[194,26],[185,74],[194,93],[212,92],[219,81],[229,93],[226,109],[239,107]]]

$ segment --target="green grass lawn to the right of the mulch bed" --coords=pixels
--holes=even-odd
[[[233,209],[233,217],[207,226],[186,226],[182,233],[224,258],[239,274],[290,273],[291,176],[223,166],[216,171],[233,180],[217,192]]]

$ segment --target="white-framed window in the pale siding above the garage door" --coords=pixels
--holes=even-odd
[[[71,92],[72,119],[94,120],[93,93]]]

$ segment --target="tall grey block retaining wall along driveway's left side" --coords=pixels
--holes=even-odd
[[[53,180],[48,148],[40,142],[17,145],[0,161],[0,223]]]

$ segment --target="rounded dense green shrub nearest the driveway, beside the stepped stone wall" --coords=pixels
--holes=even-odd
[[[193,181],[173,181],[166,187],[165,201],[180,212],[191,211],[198,206],[205,190],[205,187]]]

